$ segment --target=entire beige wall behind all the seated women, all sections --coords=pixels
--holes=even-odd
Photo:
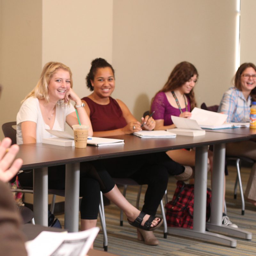
[[[199,71],[199,105],[218,104],[235,73],[236,0],[0,0],[0,124],[15,120],[42,66],[70,66],[83,97],[90,62],[116,69],[114,97],[140,118],[180,61]],[[241,62],[255,60],[256,3],[242,0]],[[254,8],[253,8],[254,7]],[[249,35],[249,36],[248,36]],[[2,139],[2,131],[0,139]]]

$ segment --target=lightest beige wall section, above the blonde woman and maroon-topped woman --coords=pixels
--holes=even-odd
[[[42,65],[52,60],[68,65],[75,91],[87,96],[91,61],[102,56],[112,62],[112,28],[112,0],[44,0]]]

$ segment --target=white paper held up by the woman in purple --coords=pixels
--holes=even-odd
[[[194,108],[191,111],[192,116],[190,119],[196,120],[199,125],[214,125],[218,126],[224,124],[228,115],[204,110],[201,108]]]

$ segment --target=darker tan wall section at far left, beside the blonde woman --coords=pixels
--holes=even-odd
[[[16,120],[42,63],[41,1],[0,0],[0,125]],[[0,139],[2,139],[0,129]]]

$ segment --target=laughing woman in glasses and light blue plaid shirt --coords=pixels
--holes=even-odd
[[[235,86],[224,93],[218,112],[228,115],[227,122],[250,122],[250,108],[256,100],[256,66],[243,63],[236,71]],[[246,156],[256,160],[256,143],[252,140],[226,144],[226,152],[232,156]],[[256,206],[256,163],[252,166],[245,197]]]

